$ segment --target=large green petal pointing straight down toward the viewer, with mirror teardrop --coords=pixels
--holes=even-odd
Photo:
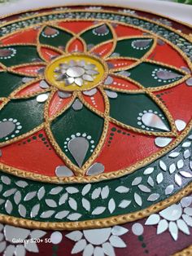
[[[75,110],[74,104],[52,122],[51,130],[59,147],[72,163],[83,166],[94,152],[103,133],[103,118],[89,111],[84,105],[81,105],[81,109]],[[72,139],[73,146],[76,144],[78,150],[81,150],[81,163],[76,157],[79,152],[70,150]]]

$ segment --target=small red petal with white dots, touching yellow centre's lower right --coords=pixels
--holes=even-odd
[[[100,90],[96,89],[97,92],[94,95],[85,95],[84,93],[83,98],[85,101],[93,108],[97,109],[101,113],[105,112],[105,102],[103,99],[103,95]]]

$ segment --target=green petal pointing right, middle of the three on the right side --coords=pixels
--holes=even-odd
[[[172,82],[177,82],[184,77],[182,73],[175,69],[146,62],[137,65],[135,68],[129,69],[129,73],[129,77],[140,82],[142,86],[146,88],[166,86]],[[143,79],[143,77],[145,77],[145,79]]]

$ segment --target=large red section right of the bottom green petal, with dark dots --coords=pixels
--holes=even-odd
[[[154,140],[154,136],[137,134],[110,123],[106,143],[95,162],[103,163],[105,172],[129,168],[159,151]]]

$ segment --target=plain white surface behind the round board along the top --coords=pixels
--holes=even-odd
[[[4,1],[4,0],[0,0]],[[185,0],[179,0],[185,1]],[[187,0],[189,1],[189,0]],[[190,0],[191,1],[191,0]],[[50,6],[59,6],[59,5],[70,5],[70,4],[117,4],[116,0],[75,0],[72,2],[71,0],[15,0],[6,3],[0,3],[0,15],[7,15],[16,11],[24,11],[28,9],[34,9],[38,7],[50,7]],[[169,1],[155,1],[155,0],[121,0],[118,6],[124,7],[132,7],[138,8],[146,11],[154,11],[161,15],[167,15],[177,20],[181,20],[187,23],[192,24],[192,6],[181,4],[177,2],[169,2]]]

